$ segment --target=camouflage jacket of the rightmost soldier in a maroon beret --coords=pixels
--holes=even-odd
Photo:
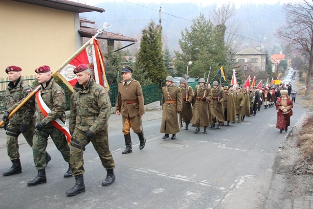
[[[88,85],[83,87],[78,82],[74,86],[71,99],[69,131],[78,129],[93,133],[108,128],[111,112],[111,101],[107,90],[90,78]]]

